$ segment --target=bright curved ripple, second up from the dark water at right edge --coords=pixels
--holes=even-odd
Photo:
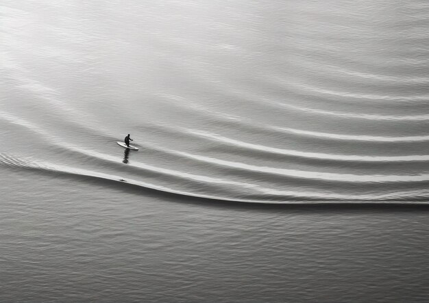
[[[324,181],[339,181],[339,182],[356,182],[356,183],[399,183],[399,182],[422,182],[429,181],[429,174],[419,175],[358,175],[358,174],[335,174],[332,172],[311,172],[304,170],[289,170],[286,168],[270,168],[267,166],[254,166],[245,163],[238,163],[233,161],[215,159],[212,157],[192,155],[190,153],[179,152],[175,153],[197,159],[199,161],[205,161],[212,164],[228,168],[239,168],[242,170],[252,172],[266,172],[269,174],[277,174],[280,176],[289,176],[302,179],[319,179]]]

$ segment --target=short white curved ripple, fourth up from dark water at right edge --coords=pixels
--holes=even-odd
[[[270,127],[278,131],[296,133],[297,135],[308,135],[311,137],[326,137],[329,139],[366,141],[366,142],[424,142],[429,140],[429,135],[415,135],[409,137],[381,137],[374,135],[342,135],[338,133],[321,133],[319,131],[303,131],[300,129],[290,129],[288,127]]]

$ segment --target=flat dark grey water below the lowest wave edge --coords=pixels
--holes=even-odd
[[[0,211],[3,302],[424,302],[429,292],[425,206],[228,204],[16,170],[0,180],[13,193]]]

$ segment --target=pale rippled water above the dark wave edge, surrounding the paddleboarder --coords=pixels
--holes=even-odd
[[[425,1],[212,2],[3,3],[1,165],[243,202],[428,201]]]

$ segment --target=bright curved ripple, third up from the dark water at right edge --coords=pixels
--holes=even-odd
[[[260,150],[267,153],[275,153],[275,154],[286,155],[286,156],[296,156],[296,157],[306,157],[306,158],[312,158],[312,159],[324,159],[324,160],[336,160],[336,161],[368,161],[368,162],[429,161],[429,155],[389,156],[389,157],[331,155],[331,154],[324,154],[324,153],[302,152],[299,150],[288,150],[284,148],[275,148],[275,147],[263,146],[259,144],[247,143],[243,141],[230,139],[228,137],[223,137],[215,133],[208,133],[206,131],[193,131],[191,129],[188,129],[188,133],[193,133],[194,135],[207,137],[217,142],[232,144],[234,146],[251,148],[254,150]]]

